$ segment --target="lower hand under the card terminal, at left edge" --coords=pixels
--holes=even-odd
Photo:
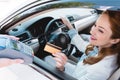
[[[22,59],[9,59],[9,58],[0,58],[0,68],[7,67],[12,64],[23,63]]]

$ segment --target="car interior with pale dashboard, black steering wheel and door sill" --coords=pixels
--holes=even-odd
[[[31,14],[31,12],[33,13]],[[77,64],[82,52],[75,45],[71,44],[70,37],[67,34],[69,29],[62,22],[61,17],[67,18],[79,32],[80,36],[85,41],[89,41],[90,28],[101,12],[101,10],[86,7],[63,7],[40,10],[37,6],[30,10],[25,10],[22,14],[15,15],[12,20],[6,22],[7,25],[4,25],[5,27],[1,28],[0,31],[1,34],[19,37],[21,42],[32,47],[35,70],[44,73],[49,78],[54,77],[56,80],[76,80],[55,68],[54,61],[51,59],[52,55],[49,51],[45,50],[45,47],[51,48],[52,46],[52,50],[55,48],[64,52],[69,59],[68,63],[71,65]],[[109,80],[117,79],[110,78]]]

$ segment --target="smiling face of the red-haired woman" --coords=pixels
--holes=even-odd
[[[90,43],[98,47],[110,47],[113,43],[111,39],[112,30],[106,14],[102,14],[90,31]]]

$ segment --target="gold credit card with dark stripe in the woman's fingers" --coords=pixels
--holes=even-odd
[[[44,47],[44,51],[46,52],[49,52],[51,54],[55,54],[55,53],[58,53],[58,52],[61,52],[62,48],[61,47],[58,47],[54,44],[51,44],[51,43],[48,43],[45,45]]]

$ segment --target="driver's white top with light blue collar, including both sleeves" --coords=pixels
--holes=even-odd
[[[82,52],[85,51],[85,47],[89,44],[78,34],[72,38],[72,43],[75,44]],[[95,48],[90,55],[97,55],[98,50],[96,49],[97,48]],[[116,64],[117,54],[106,56],[104,59],[93,65],[84,65],[84,58],[86,58],[85,54],[83,54],[77,66],[72,65],[71,67],[66,67],[65,72],[78,80],[107,80],[113,71],[118,67]],[[65,66],[67,66],[67,64]]]

